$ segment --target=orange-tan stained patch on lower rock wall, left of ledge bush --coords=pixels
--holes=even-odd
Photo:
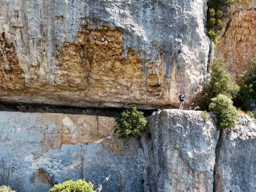
[[[36,115],[37,117],[37,115]],[[113,118],[94,115],[38,115],[39,122],[47,125],[42,145],[45,151],[64,144],[88,144],[113,136]],[[53,121],[54,120],[54,121]]]

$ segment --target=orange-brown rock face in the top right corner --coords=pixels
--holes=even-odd
[[[224,58],[227,69],[239,77],[256,56],[256,2],[236,1],[230,7],[226,31],[217,45],[216,56]]]

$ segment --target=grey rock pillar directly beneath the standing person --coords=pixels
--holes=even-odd
[[[163,110],[149,127],[152,191],[213,191],[219,131],[212,120],[204,122],[200,112]]]

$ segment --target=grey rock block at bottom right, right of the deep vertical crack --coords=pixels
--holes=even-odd
[[[241,118],[235,128],[223,131],[217,147],[215,191],[256,191],[256,125]]]

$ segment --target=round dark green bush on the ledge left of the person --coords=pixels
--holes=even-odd
[[[114,126],[115,133],[121,137],[140,137],[145,131],[147,120],[143,116],[143,112],[132,107],[128,110],[120,112],[116,118],[116,126]]]

